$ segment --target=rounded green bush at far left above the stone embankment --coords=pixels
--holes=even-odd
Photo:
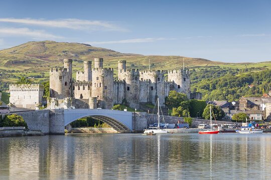
[[[24,126],[27,127],[27,123],[21,115],[11,114],[6,115],[3,120],[0,121],[0,126]]]

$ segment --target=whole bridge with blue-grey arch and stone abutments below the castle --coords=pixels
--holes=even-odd
[[[86,116],[109,124],[118,132],[132,132],[138,129],[135,118],[137,112],[110,109],[46,109],[24,112],[15,112],[23,116],[30,130],[40,130],[45,134],[64,134],[65,126],[69,123]],[[144,118],[143,126],[147,125],[147,118]],[[141,122],[141,121],[139,121]]]

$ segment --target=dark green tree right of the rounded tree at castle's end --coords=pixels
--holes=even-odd
[[[201,117],[204,108],[206,107],[205,100],[191,99],[189,100],[189,112],[191,117]]]

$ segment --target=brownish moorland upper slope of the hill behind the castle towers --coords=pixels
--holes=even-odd
[[[56,42],[56,41],[30,41],[8,49],[0,50],[0,67],[11,65],[22,66],[25,69],[36,66],[60,66],[63,58],[76,60],[93,60],[94,57],[103,57],[105,66],[116,67],[117,59],[126,59],[131,66],[148,66],[149,59],[155,68],[172,69],[182,67],[183,58],[185,64],[211,65],[223,64],[224,62],[214,62],[203,58],[191,58],[183,56],[160,56],[141,55],[133,53],[121,53],[111,49],[95,47],[90,44],[76,42]]]

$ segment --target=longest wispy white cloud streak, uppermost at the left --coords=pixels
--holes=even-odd
[[[0,22],[24,23],[30,25],[41,25],[48,27],[62,27],[81,30],[113,30],[127,31],[116,24],[102,20],[83,20],[76,18],[68,19],[32,19],[32,18],[0,18]]]

